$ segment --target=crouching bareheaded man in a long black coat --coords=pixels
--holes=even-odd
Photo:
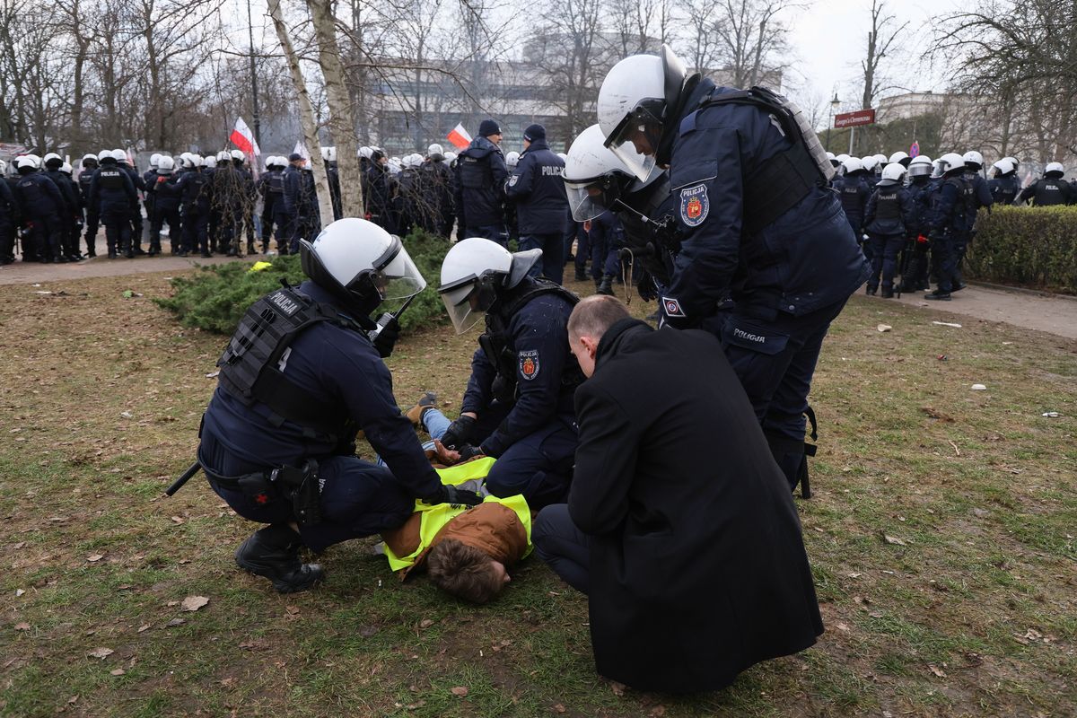
[[[656,332],[596,295],[569,341],[590,377],[576,391],[575,474],[532,537],[590,597],[598,672],[715,690],[813,645],[823,622],[796,506],[718,340]]]

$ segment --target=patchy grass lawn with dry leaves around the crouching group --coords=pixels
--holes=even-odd
[[[676,698],[597,676],[586,600],[536,560],[482,608],[401,585],[374,539],[326,551],[308,593],[238,571],[253,524],[200,478],[162,495],[225,343],[152,302],[168,292],[162,274],[0,286],[2,715],[1077,715],[1075,342],[854,297],[797,499],[827,631]],[[401,404],[433,389],[456,416],[474,342],[405,337]]]

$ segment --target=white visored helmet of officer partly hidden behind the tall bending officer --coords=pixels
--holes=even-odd
[[[661,170],[656,169],[648,181],[661,174]],[[605,146],[605,136],[598,125],[591,125],[572,141],[561,177],[569,195],[572,219],[576,222],[593,220],[605,210],[613,209],[618,198],[633,184],[637,185],[633,189],[647,184],[640,183],[620,157]]]

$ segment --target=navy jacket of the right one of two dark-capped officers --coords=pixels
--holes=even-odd
[[[545,140],[536,140],[520,154],[520,161],[505,183],[505,196],[516,203],[520,235],[564,233],[569,197],[564,189],[564,160]]]

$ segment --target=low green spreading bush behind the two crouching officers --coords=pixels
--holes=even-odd
[[[442,274],[442,259],[445,258],[449,243],[442,238],[417,231],[404,239],[404,247],[415,259],[428,285],[404,312],[401,325],[405,329],[411,329],[446,323],[448,316],[445,305],[437,296],[437,284]],[[274,257],[271,266],[262,271],[250,269],[251,264],[248,262],[199,267],[194,277],[172,279],[174,294],[155,301],[174,312],[185,326],[230,335],[247,308],[280,286],[281,278],[288,279],[292,284],[299,284],[306,279],[296,255]],[[398,306],[400,302],[387,304],[382,309],[394,310]]]

